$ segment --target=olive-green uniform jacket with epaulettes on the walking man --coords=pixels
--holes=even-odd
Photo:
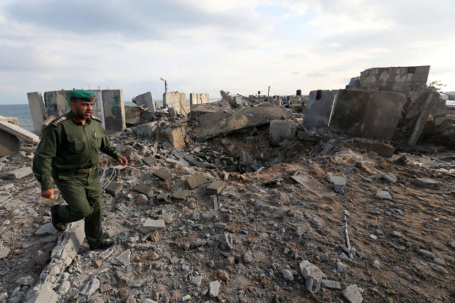
[[[45,127],[33,158],[33,174],[41,190],[53,187],[50,169],[68,171],[90,169],[97,165],[100,151],[119,159],[120,150],[112,146],[97,117],[85,120],[85,125],[73,112],[58,117]]]

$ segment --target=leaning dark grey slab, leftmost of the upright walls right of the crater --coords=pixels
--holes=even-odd
[[[308,96],[304,115],[304,127],[322,127],[328,125],[335,102],[336,91],[322,90],[321,99],[316,100],[317,91],[312,90]]]

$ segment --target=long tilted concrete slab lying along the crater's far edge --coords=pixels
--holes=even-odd
[[[212,103],[210,103],[211,105]],[[193,128],[197,139],[208,139],[240,129],[269,124],[275,119],[291,119],[290,112],[282,107],[254,107],[235,112],[215,112],[200,115],[199,124]]]

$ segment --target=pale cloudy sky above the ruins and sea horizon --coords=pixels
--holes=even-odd
[[[455,90],[454,0],[0,0],[0,104],[27,92],[304,94],[432,65]],[[176,88],[177,87],[177,88]]]

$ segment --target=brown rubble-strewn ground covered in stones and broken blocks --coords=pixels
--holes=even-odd
[[[58,302],[454,302],[455,179],[419,163],[437,155],[395,163],[401,155],[385,159],[343,137],[330,147],[299,139],[268,147],[264,133],[227,138],[232,154],[242,147],[264,166],[245,174],[186,166],[170,147],[137,139],[142,148],[129,153],[130,165],[106,172],[123,188],[102,196],[105,235],[117,245],[100,252],[84,243],[55,284]],[[125,138],[118,139],[127,146]],[[220,141],[186,149],[211,164],[194,149]],[[31,166],[33,151],[24,145],[0,159],[0,302],[23,302],[59,235],[43,230],[55,201],[40,198],[33,174],[9,175]],[[447,155],[445,164],[454,161]],[[159,178],[159,169],[171,176]],[[206,182],[187,181],[200,174]],[[308,185],[315,180],[322,186]],[[218,210],[206,189],[213,181],[226,184]],[[179,190],[188,196],[177,197]]]

